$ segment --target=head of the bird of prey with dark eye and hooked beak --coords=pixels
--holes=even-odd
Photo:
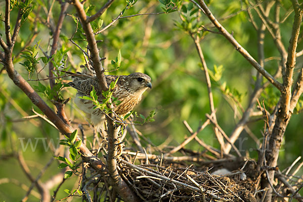
[[[151,79],[148,75],[135,72],[126,76],[128,82],[128,90],[133,93],[142,94],[147,88],[151,88]]]

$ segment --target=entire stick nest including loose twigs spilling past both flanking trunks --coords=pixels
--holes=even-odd
[[[135,145],[127,143],[128,147],[123,149],[117,168],[122,179],[142,201],[262,202],[268,188],[261,188],[261,176],[268,176],[268,171],[274,170],[272,201],[291,201],[295,198],[303,202],[299,193],[303,187],[303,177],[296,176],[303,163],[293,169],[299,158],[290,167],[279,171],[278,168],[260,166],[255,160],[241,155],[222,156],[220,150],[204,142],[200,144],[205,150],[194,151],[184,148],[183,143],[160,148],[146,140],[149,143],[146,147],[148,153],[141,146],[139,138],[129,132]],[[104,157],[105,148],[106,144],[100,149]],[[216,173],[221,169],[228,172]],[[95,198],[115,201],[120,196],[109,182],[109,175],[102,176],[92,169],[91,176],[85,176],[84,188],[94,190]],[[88,188],[91,185],[92,188]]]

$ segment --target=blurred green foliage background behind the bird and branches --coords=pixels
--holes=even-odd
[[[18,56],[15,58],[14,63],[16,70],[21,73],[24,78],[28,78],[28,72],[20,65],[20,63],[24,62],[24,58],[20,57],[20,50],[32,37],[33,32],[38,31],[38,35],[31,45],[40,41],[40,47],[43,51],[48,51],[49,53],[48,43],[51,41],[52,32],[50,32],[45,26],[45,23],[43,23],[43,21],[46,20],[46,15],[44,11],[42,11],[42,7],[45,5],[48,7],[51,2],[52,1],[46,0],[36,1],[36,5],[33,12],[29,15],[29,19],[25,21],[21,27],[14,51],[14,55]],[[87,15],[94,14],[105,2],[95,0],[89,1],[89,3],[95,5],[95,7],[91,8]],[[189,3],[185,1],[182,4],[188,6]],[[283,16],[287,12],[287,9],[291,7],[291,4],[289,1],[282,1],[282,5],[283,8],[285,8],[281,10],[281,15]],[[246,48],[254,58],[258,59],[257,34],[248,21],[247,13],[244,11],[239,12],[241,10],[241,1],[212,0],[209,1],[209,6],[216,17],[222,19],[220,22],[226,29],[233,32],[238,42]],[[100,18],[103,20],[103,27],[111,23],[125,7],[125,1],[115,1]],[[133,7],[128,9],[123,16],[138,13],[160,13],[162,12],[161,7],[163,7],[163,5],[158,1],[138,1]],[[4,19],[4,9],[5,2],[1,1],[1,19]],[[69,6],[67,12],[70,15],[76,15],[73,6]],[[228,17],[235,13],[237,14],[233,17]],[[57,22],[59,14],[60,5],[56,2],[53,9],[55,22]],[[96,37],[97,40],[102,40],[98,45],[101,48],[100,56],[107,58],[104,61],[104,66],[107,70],[114,69],[111,65],[111,60],[116,59],[119,49],[121,49],[122,61],[119,70],[108,74],[124,75],[132,72],[143,72],[151,77],[153,89],[147,90],[147,92],[144,93],[141,103],[135,110],[146,117],[151,110],[156,109],[157,115],[154,117],[155,122],[137,126],[142,134],[156,145],[161,145],[164,142],[170,145],[178,145],[184,139],[185,134],[188,135],[182,121],[186,120],[195,130],[206,120],[205,114],[210,113],[205,76],[201,70],[200,60],[193,40],[186,31],[175,25],[181,23],[179,14],[179,12],[173,12],[169,14],[143,15],[119,19],[114,26]],[[12,23],[15,22],[16,16],[17,9],[13,9],[11,14]],[[42,22],[37,18],[42,19]],[[210,22],[204,16],[200,15],[199,18],[206,27],[210,25]],[[281,35],[286,47],[290,37],[292,20],[293,14],[291,14],[281,27]],[[82,52],[68,41],[75,28],[76,24],[73,18],[67,16],[60,36],[63,42],[59,46],[62,47],[62,53],[64,50],[69,50],[72,55],[72,58],[69,59],[73,61],[76,69],[71,65],[71,62],[67,60],[66,68],[69,71],[79,71],[80,65],[85,64]],[[0,22],[0,30],[4,35],[3,22]],[[85,48],[86,43],[81,40],[83,34],[80,34],[80,31],[81,29],[79,28],[73,40],[81,45],[82,48]],[[218,69],[222,71],[222,75],[220,75],[220,73],[217,75],[219,78],[218,81],[212,80],[212,89],[215,108],[217,109],[218,123],[227,134],[230,134],[236,123],[234,120],[234,111],[228,105],[230,99],[222,92],[220,87],[226,83],[226,89],[229,89],[245,108],[249,94],[254,88],[252,81],[256,76],[256,71],[235,51],[232,45],[223,36],[208,32],[201,33],[201,35],[203,35],[201,46],[209,69],[214,72],[214,75],[215,67],[217,67],[217,71]],[[302,43],[299,43],[298,50],[302,47]],[[274,48],[273,40],[268,33],[266,33],[265,38],[265,56],[266,58],[279,56],[277,49]],[[38,50],[38,57],[43,57],[40,49]],[[57,57],[60,65],[63,57],[62,55],[58,55]],[[277,60],[270,60],[266,63],[265,68],[273,74],[277,65]],[[301,65],[302,59],[299,58],[297,66],[300,67]],[[37,69],[41,70],[43,67],[44,64],[40,60]],[[2,68],[2,66],[0,66],[0,68]],[[48,75],[47,66],[39,73],[39,78],[45,77],[45,75]],[[36,72],[33,71],[29,77],[36,79]],[[46,87],[49,86],[47,80],[40,82]],[[37,81],[30,81],[30,84],[32,86],[38,86]],[[43,93],[40,93],[40,95],[44,96]],[[74,89],[64,88],[62,90],[63,98],[73,97],[74,95]],[[277,103],[278,95],[279,92],[270,86],[262,94],[260,102],[262,102],[264,98],[266,108],[271,110]],[[46,100],[49,105],[52,105],[47,99],[47,96],[44,96],[44,100]],[[16,110],[16,106],[19,106],[21,109]],[[3,71],[0,75],[0,155],[2,156],[0,157],[0,179],[16,178],[24,184],[30,184],[21,171],[16,159],[9,158],[9,155],[12,154],[14,150],[21,148],[19,138],[25,138],[25,140],[32,138],[33,143],[35,143],[35,137],[53,138],[55,144],[59,141],[57,139],[59,133],[45,121],[36,119],[36,121],[41,124],[40,127],[35,127],[28,121],[18,121],[22,116],[26,116],[20,114],[20,111],[32,115],[32,108],[41,113],[32,105],[30,99],[13,84],[6,72]],[[68,103],[66,111],[72,121],[84,121],[83,116],[75,110],[72,101]],[[280,169],[289,166],[294,159],[302,155],[302,122],[302,115],[293,115],[285,133],[284,150],[281,151],[279,157]],[[74,127],[77,128],[77,124],[75,124]],[[263,127],[264,121],[262,118],[259,121],[249,124],[249,128],[258,138],[262,137],[261,131],[263,131]],[[211,126],[201,131],[198,137],[208,144],[219,148]],[[241,138],[247,138],[247,140],[240,145],[242,153],[245,154],[244,150],[247,150],[250,157],[257,158],[256,143],[252,141],[245,132],[242,132]],[[236,146],[239,146],[239,143],[236,143]],[[200,151],[204,149],[194,142],[189,143],[186,147]],[[30,166],[30,170],[35,175],[38,174],[41,168],[52,158],[52,153],[45,152],[43,144],[39,141],[35,151],[32,151],[30,147],[24,151],[24,157]],[[51,168],[47,169],[41,181],[58,173],[59,169],[57,167],[59,163],[60,162],[53,163]],[[75,182],[75,178],[68,179],[64,187],[72,189]],[[20,200],[24,194],[25,192],[20,186],[0,184],[0,200],[16,201]],[[66,195],[63,190],[60,190],[57,198],[63,198]],[[29,201],[34,200],[36,200],[36,198],[30,196]],[[81,201],[80,198],[73,198],[73,200]]]

